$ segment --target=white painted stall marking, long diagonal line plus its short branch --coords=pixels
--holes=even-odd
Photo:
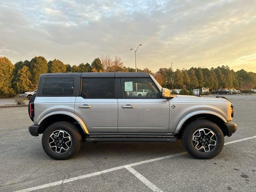
[[[245,141],[245,140],[250,140],[250,139],[255,139],[255,138],[256,138],[256,136],[247,137],[247,138],[243,138],[243,139],[238,139],[238,140],[234,140],[234,141],[231,141],[231,142],[226,142],[224,145],[228,145],[228,144],[232,144],[232,143],[236,143],[236,142],[241,142],[241,141]],[[140,181],[142,181],[152,191],[162,192],[162,190],[160,190],[157,186],[155,186],[153,183],[148,181],[139,172],[134,170],[132,168],[132,166],[137,166],[137,165],[141,165],[141,164],[145,164],[145,163],[149,163],[149,162],[154,162],[154,161],[164,160],[164,159],[173,158],[173,157],[177,157],[177,156],[182,156],[184,154],[187,154],[187,152],[172,154],[172,155],[168,155],[168,156],[162,156],[162,157],[158,157],[158,158],[154,158],[154,159],[149,159],[149,160],[145,160],[145,161],[131,163],[131,164],[123,165],[123,166],[118,166],[118,167],[114,167],[114,168],[110,168],[110,169],[106,169],[106,170],[102,170],[102,171],[98,171],[98,172],[94,172],[94,173],[90,173],[90,174],[85,174],[85,175],[81,175],[81,176],[77,176],[77,177],[72,177],[72,178],[65,179],[65,180],[60,180],[60,181],[51,182],[51,183],[48,183],[48,184],[43,184],[43,185],[39,185],[39,186],[35,186],[35,187],[30,187],[30,188],[18,190],[16,192],[29,192],[29,191],[34,191],[34,190],[38,190],[38,189],[43,189],[43,188],[48,188],[48,187],[52,187],[52,186],[57,186],[57,185],[61,185],[61,184],[64,184],[64,183],[68,183],[68,182],[72,182],[72,181],[76,181],[76,180],[81,180],[81,179],[84,179],[84,178],[88,178],[88,177],[92,177],[92,176],[96,176],[96,175],[112,172],[112,171],[115,171],[115,170],[120,170],[120,169],[123,169],[123,168],[127,169],[132,174],[134,174],[134,176],[136,176]]]

